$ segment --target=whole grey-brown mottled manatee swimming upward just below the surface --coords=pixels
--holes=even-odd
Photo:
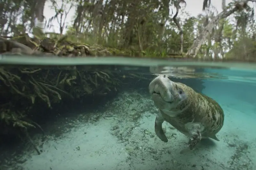
[[[150,82],[149,93],[158,108],[155,132],[163,142],[168,142],[162,128],[164,121],[189,137],[188,150],[193,150],[202,138],[220,141],[216,134],[223,126],[224,112],[211,97],[164,76]]]

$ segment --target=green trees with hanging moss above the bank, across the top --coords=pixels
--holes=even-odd
[[[44,18],[46,0],[5,0],[0,3],[1,36],[27,34],[35,20],[58,32],[48,37],[68,35],[76,43],[140,51],[145,56],[166,57],[173,54],[196,58],[232,58],[254,60],[256,54],[255,0],[222,0],[217,11],[210,0],[198,9],[204,14],[184,12],[185,0],[51,0],[55,15]],[[49,2],[47,2],[49,4]],[[71,14],[70,9],[75,9]],[[183,13],[187,16],[180,18]],[[67,24],[67,15],[72,23]],[[56,22],[54,22],[56,23]],[[35,32],[35,31],[34,31]]]

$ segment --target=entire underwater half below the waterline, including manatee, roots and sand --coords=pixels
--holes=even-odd
[[[1,169],[256,168],[256,65],[72,61],[2,56]]]

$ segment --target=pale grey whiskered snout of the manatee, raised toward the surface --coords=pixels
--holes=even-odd
[[[158,76],[149,84],[149,93],[153,97],[154,102],[164,100],[172,102],[172,81],[167,77]]]

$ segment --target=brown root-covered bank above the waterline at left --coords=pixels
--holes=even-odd
[[[0,54],[5,55],[26,54],[60,57],[132,56],[132,51],[130,50],[71,42],[67,40],[67,35],[52,39],[47,37],[42,39],[30,38],[27,34],[12,37],[10,40],[3,37],[0,38]]]

